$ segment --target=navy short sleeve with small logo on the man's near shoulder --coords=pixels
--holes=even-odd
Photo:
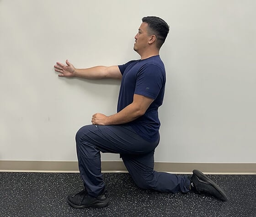
[[[160,90],[165,84],[165,73],[160,67],[154,64],[143,66],[136,78],[134,94],[144,95],[156,99]]]

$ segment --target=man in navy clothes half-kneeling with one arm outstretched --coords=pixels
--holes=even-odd
[[[168,32],[169,26],[161,18],[144,17],[133,47],[141,57],[139,60],[89,69],[75,69],[68,60],[67,65],[57,63],[54,66],[60,77],[122,79],[117,113],[111,116],[94,114],[92,125],[80,128],[76,134],[77,157],[85,189],[68,196],[71,206],[107,206],[109,198],[102,180],[100,151],[119,153],[140,188],[171,193],[203,191],[227,200],[219,186],[198,170],[193,171],[192,177],[154,171],[154,151],[160,140],[158,108],[165,91],[165,67],[159,51]]]

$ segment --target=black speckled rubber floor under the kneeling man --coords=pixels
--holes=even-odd
[[[66,196],[83,188],[78,173],[0,172],[1,217],[256,217],[256,175],[209,175],[229,200],[139,189],[127,173],[104,173],[109,204],[74,209]]]

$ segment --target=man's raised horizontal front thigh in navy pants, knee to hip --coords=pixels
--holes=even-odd
[[[122,125],[87,125],[77,132],[76,140],[93,145],[103,153],[144,154],[155,149],[158,142],[149,143],[132,127]]]

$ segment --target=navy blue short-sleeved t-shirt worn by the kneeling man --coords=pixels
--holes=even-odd
[[[133,102],[133,95],[144,95],[154,101],[143,116],[128,122],[135,132],[149,142],[159,138],[160,121],[158,107],[162,105],[165,93],[165,66],[160,56],[132,60],[118,66],[122,77],[117,112]]]

